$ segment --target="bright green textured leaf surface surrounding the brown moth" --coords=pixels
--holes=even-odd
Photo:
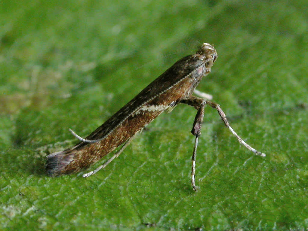
[[[307,1],[1,1],[0,230],[308,228]],[[46,155],[85,137],[174,62],[214,44],[205,110],[162,114],[95,175],[48,177]],[[99,165],[96,164],[83,173]]]

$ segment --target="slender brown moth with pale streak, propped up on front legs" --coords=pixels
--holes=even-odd
[[[118,157],[136,134],[142,131],[144,126],[162,112],[171,112],[179,103],[188,104],[197,110],[191,130],[191,133],[195,136],[191,171],[191,183],[195,191],[197,190],[195,184],[197,146],[206,105],[217,109],[225,126],[242,145],[256,155],[265,156],[264,153],[252,148],[237,135],[229,125],[219,104],[192,95],[202,77],[211,72],[211,67],[217,57],[215,48],[209,43],[203,43],[195,54],[181,58],[173,64],[86,138],[80,137],[70,129],[72,134],[80,140],[79,144],[48,155],[47,173],[52,177],[77,173],[122,145],[103,165],[100,165],[94,171],[83,174],[83,177],[96,173]]]

